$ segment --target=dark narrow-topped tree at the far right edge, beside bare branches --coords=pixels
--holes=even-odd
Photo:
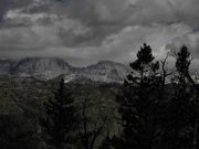
[[[177,75],[172,76],[174,94],[165,110],[163,146],[166,149],[198,148],[197,84],[190,76],[190,52],[182,46],[177,53]]]

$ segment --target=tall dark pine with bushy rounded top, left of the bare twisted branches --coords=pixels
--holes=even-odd
[[[159,63],[154,62],[154,58],[150,46],[144,44],[137,53],[137,60],[130,63],[133,71],[124,83],[119,113],[125,149],[154,149],[157,143],[157,92],[161,85],[161,77],[157,72]]]

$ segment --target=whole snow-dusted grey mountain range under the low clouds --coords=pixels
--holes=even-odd
[[[100,61],[86,67],[74,67],[57,57],[28,57],[19,61],[0,60],[0,75],[53,79],[63,76],[65,82],[90,78],[96,82],[123,82],[128,67],[112,61]]]

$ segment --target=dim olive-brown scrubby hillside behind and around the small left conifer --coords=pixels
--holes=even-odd
[[[2,149],[52,148],[46,143],[49,139],[43,128],[43,120],[46,119],[44,103],[54,99],[54,92],[60,88],[60,78],[42,82],[34,78],[0,77],[0,147]],[[97,137],[97,145],[101,143],[106,131],[118,132],[118,104],[115,98],[121,92],[121,84],[80,79],[66,86],[65,92],[70,88],[77,115],[82,115],[86,102],[87,127],[95,129],[101,118],[107,117],[103,131]],[[81,148],[78,141],[74,143]]]

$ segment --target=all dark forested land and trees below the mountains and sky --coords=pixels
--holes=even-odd
[[[191,61],[187,46],[156,61],[144,44],[124,84],[0,77],[0,148],[198,149]]]

